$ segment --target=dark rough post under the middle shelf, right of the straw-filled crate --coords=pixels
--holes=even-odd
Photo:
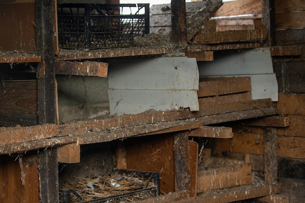
[[[190,190],[190,143],[185,132],[174,135],[175,191]]]

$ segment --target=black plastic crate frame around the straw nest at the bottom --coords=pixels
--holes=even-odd
[[[77,198],[77,203],[129,203],[138,200],[145,200],[150,197],[160,195],[159,173],[157,172],[143,172],[129,169],[114,169],[111,174],[122,174],[124,176],[137,176],[141,177],[143,183],[142,187],[134,188],[132,191],[128,190],[120,194],[96,198],[90,201],[84,201],[81,196],[73,189],[60,189],[60,203],[71,203],[71,195]],[[149,186],[149,183],[150,186]],[[153,186],[152,186],[153,185]],[[75,201],[74,201],[75,202]]]

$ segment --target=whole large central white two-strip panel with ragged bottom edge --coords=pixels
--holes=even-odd
[[[111,114],[180,107],[199,110],[199,72],[195,58],[143,57],[107,62]]]

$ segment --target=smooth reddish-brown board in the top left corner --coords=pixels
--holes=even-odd
[[[2,3],[0,44],[2,51],[36,53],[35,2]],[[9,12],[14,11],[14,12]]]

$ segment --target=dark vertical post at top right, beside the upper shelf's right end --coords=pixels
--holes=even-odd
[[[262,0],[262,22],[267,26],[267,41],[268,46],[272,46],[275,41],[275,10],[274,0]]]

